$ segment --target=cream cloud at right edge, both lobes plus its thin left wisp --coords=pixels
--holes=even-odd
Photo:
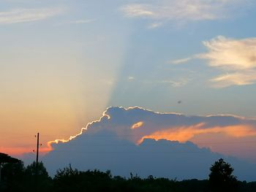
[[[215,88],[251,85],[256,82],[256,38],[231,39],[219,36],[204,41],[203,45],[208,50],[207,53],[168,61],[168,63],[183,64],[194,58],[205,59],[209,66],[225,72],[210,80]]]

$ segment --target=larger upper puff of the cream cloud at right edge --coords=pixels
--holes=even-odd
[[[256,38],[231,39],[216,37],[203,42],[208,53],[197,55],[208,60],[210,66],[224,70],[245,70],[256,67]]]

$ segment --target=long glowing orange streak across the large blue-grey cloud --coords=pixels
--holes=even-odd
[[[152,134],[142,137],[138,144],[143,142],[143,139],[167,139],[178,142],[187,142],[192,137],[198,134],[227,134],[230,137],[249,137],[256,136],[255,128],[249,125],[236,126],[217,126],[206,128],[205,123],[198,123],[194,126],[181,126],[177,128],[168,128],[165,130],[155,131]]]

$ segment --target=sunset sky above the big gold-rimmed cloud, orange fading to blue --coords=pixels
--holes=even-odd
[[[255,8],[254,0],[1,0],[1,152],[32,152],[37,132],[47,151],[111,106],[255,120]],[[232,141],[251,153],[256,127],[247,124],[252,135]],[[187,140],[209,147],[200,142],[226,137]],[[256,163],[225,147],[212,150]]]

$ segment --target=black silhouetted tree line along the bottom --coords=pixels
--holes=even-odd
[[[178,181],[152,175],[140,178],[132,173],[126,178],[97,169],[79,171],[71,165],[57,170],[54,177],[49,177],[42,162],[39,162],[38,166],[35,162],[24,166],[23,162],[19,161],[15,164],[2,165],[0,191],[256,191],[256,182],[237,180],[233,170],[232,166],[221,158],[210,167],[207,180]]]

